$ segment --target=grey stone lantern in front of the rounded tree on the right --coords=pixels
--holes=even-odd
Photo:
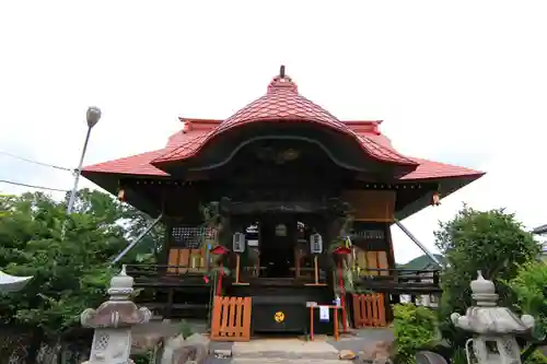
[[[480,271],[470,286],[477,305],[467,308],[465,316],[451,315],[456,327],[474,333],[466,344],[468,361],[470,343],[479,364],[520,364],[521,349],[515,338],[532,331],[534,318],[529,315],[519,318],[509,308],[499,307],[493,282],[485,280]]]

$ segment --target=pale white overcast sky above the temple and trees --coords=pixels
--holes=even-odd
[[[400,152],[488,173],[405,221],[428,247],[463,201],[534,227],[547,223],[546,15],[545,1],[0,1],[0,151],[75,167],[89,105],[103,118],[85,164],[162,148],[179,115],[226,118],[282,63],[338,118],[383,119]],[[0,179],[72,183],[5,155]],[[420,254],[393,231],[398,261]]]

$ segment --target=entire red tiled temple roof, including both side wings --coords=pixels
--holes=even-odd
[[[379,126],[382,121],[340,121],[321,106],[300,95],[296,84],[283,72],[270,82],[266,95],[223,121],[187,118],[181,118],[181,121],[185,125],[183,130],[171,136],[164,149],[95,164],[83,168],[82,172],[84,175],[101,173],[168,176],[155,166],[191,157],[216,136],[238,126],[256,121],[277,121],[315,122],[353,138],[365,153],[379,161],[417,166],[415,171],[400,177],[406,181],[482,175],[481,172],[469,168],[401,155],[380,132]]]

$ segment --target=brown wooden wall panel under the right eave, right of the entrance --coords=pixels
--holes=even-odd
[[[354,221],[391,222],[396,192],[392,190],[346,190],[341,199],[353,208]]]

